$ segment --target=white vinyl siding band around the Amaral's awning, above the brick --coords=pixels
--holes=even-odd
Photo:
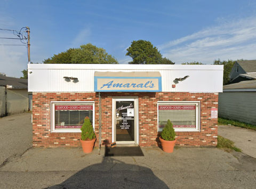
[[[163,92],[222,92],[223,65],[28,64],[28,67],[30,92],[94,92],[95,71],[158,71],[162,76]],[[185,76],[189,78],[172,88],[175,78]]]

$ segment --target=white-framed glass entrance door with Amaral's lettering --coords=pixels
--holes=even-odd
[[[115,100],[114,141],[119,144],[134,144],[137,141],[137,110],[135,106],[134,99]]]

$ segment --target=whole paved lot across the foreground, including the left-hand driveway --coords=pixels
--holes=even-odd
[[[246,153],[147,147],[144,157],[104,157],[104,147],[31,148],[30,118],[0,119],[0,188],[255,188],[256,159]]]

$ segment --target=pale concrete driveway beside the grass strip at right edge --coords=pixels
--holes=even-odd
[[[218,135],[228,138],[244,153],[256,158],[256,130],[241,127],[219,125]]]

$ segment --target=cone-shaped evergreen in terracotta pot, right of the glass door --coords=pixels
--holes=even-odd
[[[175,136],[176,134],[173,129],[172,122],[170,121],[170,119],[168,119],[167,124],[165,125],[161,133],[161,137],[159,137],[164,152],[173,152],[175,143],[177,141],[177,139],[175,139]]]

